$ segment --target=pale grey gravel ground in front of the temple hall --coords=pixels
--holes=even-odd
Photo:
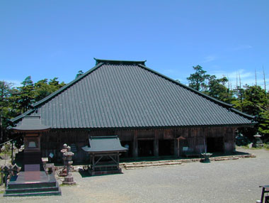
[[[185,163],[160,168],[122,170],[120,175],[81,177],[61,187],[62,196],[3,197],[0,202],[256,202],[259,185],[269,185],[269,151],[244,150],[256,158]]]

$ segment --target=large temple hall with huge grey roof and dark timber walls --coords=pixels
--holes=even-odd
[[[86,160],[81,147],[89,136],[115,135],[129,148],[126,157],[182,155],[183,147],[202,153],[231,153],[236,128],[253,117],[145,66],[144,61],[96,60],[96,67],[33,104],[23,116],[40,116],[51,128],[42,133],[45,157],[64,143],[74,160]],[[177,138],[183,138],[178,140]]]

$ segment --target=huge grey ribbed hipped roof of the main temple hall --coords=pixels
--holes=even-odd
[[[51,128],[248,125],[252,116],[150,70],[142,62],[96,60],[96,67],[33,104]]]

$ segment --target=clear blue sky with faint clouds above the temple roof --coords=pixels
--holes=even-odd
[[[0,1],[0,80],[71,82],[93,57],[269,84],[269,1]],[[269,87],[269,86],[268,86]]]

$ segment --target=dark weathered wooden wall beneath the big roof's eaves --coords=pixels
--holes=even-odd
[[[231,153],[235,150],[235,131],[236,127],[210,127],[210,128],[166,128],[166,129],[136,129],[136,130],[51,130],[43,133],[41,138],[42,157],[47,157],[54,153],[55,161],[62,161],[60,150],[64,143],[69,146],[74,144],[74,161],[87,160],[88,155],[84,153],[81,147],[88,145],[89,136],[111,136],[117,135],[122,142],[132,142],[132,156],[137,157],[138,141],[154,141],[154,155],[159,155],[159,141],[169,140],[173,146],[173,154],[178,155],[178,141],[176,138],[182,136],[184,141],[180,141],[179,154],[182,154],[183,146],[188,146],[195,153],[204,151],[207,138],[223,137],[224,153]]]

